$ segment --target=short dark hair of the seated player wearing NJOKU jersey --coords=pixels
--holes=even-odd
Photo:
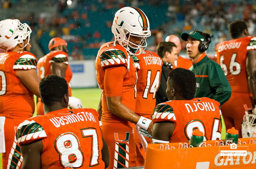
[[[184,68],[176,68],[169,73],[169,84],[172,83],[175,90],[186,100],[195,97],[195,74]]]

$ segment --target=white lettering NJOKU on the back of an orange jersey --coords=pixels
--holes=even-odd
[[[211,106],[211,104],[212,104],[212,106]],[[188,110],[188,113],[190,113],[190,110],[191,110],[191,112],[196,112],[198,110],[215,111],[215,107],[214,107],[213,103],[211,103],[211,104],[209,102],[193,103],[192,105],[186,103],[185,106],[186,106],[186,109]]]

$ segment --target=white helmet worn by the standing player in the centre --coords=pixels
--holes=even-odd
[[[131,54],[136,55],[145,50],[148,45],[146,38],[151,35],[148,17],[136,7],[119,9],[115,14],[111,30],[119,45],[122,45]],[[141,37],[140,43],[132,43],[130,41],[131,36]]]

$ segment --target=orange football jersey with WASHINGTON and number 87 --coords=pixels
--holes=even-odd
[[[17,143],[42,140],[42,169],[103,169],[102,132],[94,109],[61,109],[23,121]]]

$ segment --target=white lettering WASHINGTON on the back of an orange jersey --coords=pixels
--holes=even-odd
[[[66,124],[76,123],[84,120],[96,122],[93,114],[88,112],[85,112],[85,113],[79,112],[76,114],[64,115],[61,117],[54,117],[54,118],[50,118],[49,120],[57,128],[60,127],[61,125],[64,126]]]

